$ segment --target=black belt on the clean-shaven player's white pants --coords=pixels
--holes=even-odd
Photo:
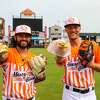
[[[90,92],[91,90],[94,90],[94,87],[88,88],[88,89],[78,89],[78,88],[74,88],[74,87],[70,88],[70,86],[68,86],[68,85],[65,85],[65,88],[68,89],[68,90],[72,90],[74,92],[82,93],[82,94],[85,94],[85,93]]]

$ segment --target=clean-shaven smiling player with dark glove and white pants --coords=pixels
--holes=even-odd
[[[81,24],[77,17],[68,17],[64,27],[71,54],[56,57],[57,64],[65,67],[62,100],[96,100],[94,70],[100,71],[98,45],[80,40]]]

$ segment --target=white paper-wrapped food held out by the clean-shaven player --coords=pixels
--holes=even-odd
[[[55,56],[60,56],[60,57],[68,56],[71,53],[70,43],[62,39],[52,41],[48,45],[47,50],[51,54]]]

